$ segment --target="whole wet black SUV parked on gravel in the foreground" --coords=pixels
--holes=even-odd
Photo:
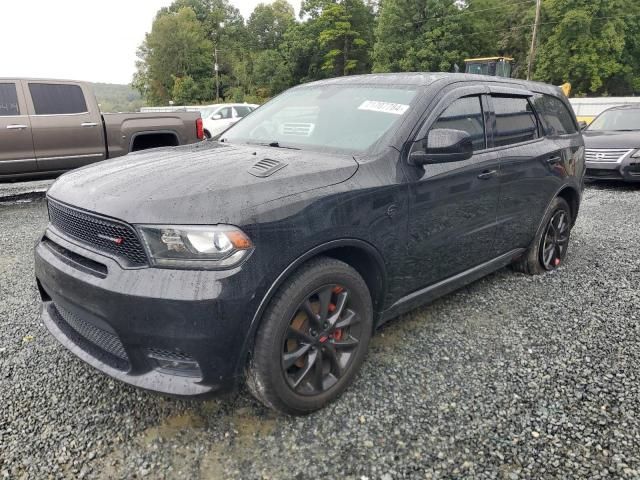
[[[461,74],[343,77],[212,142],[62,176],[35,251],[42,320],[132,385],[246,380],[304,414],[375,327],[505,265],[567,254],[585,170],[559,89]]]

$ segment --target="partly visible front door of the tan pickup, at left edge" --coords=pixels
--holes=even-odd
[[[22,85],[19,80],[0,80],[0,175],[36,170]]]

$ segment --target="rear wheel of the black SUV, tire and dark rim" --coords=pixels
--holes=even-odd
[[[566,222],[566,224],[564,222]],[[556,197],[553,200],[551,207],[545,214],[542,225],[543,227],[536,234],[536,238],[527,252],[514,262],[514,270],[529,275],[538,275],[550,270],[555,270],[564,262],[569,249],[571,227],[573,225],[571,208],[564,198]],[[562,226],[562,232],[558,232],[558,225]],[[558,245],[554,247],[551,253],[550,249],[553,238],[550,238],[549,235],[553,237],[554,232],[556,232],[554,238],[558,240]],[[548,255],[545,255],[545,250]],[[549,259],[550,261],[548,261]]]

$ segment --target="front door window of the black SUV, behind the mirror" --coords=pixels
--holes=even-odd
[[[474,151],[486,148],[484,117],[482,115],[480,97],[459,98],[449,105],[433,124],[431,130],[440,128],[462,130],[469,133],[473,141]]]

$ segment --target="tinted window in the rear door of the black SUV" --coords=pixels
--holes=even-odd
[[[494,145],[503,147],[538,138],[538,122],[524,97],[492,96],[496,113]]]

